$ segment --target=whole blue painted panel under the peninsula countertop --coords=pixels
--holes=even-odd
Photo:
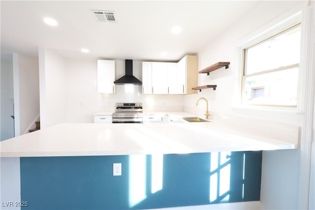
[[[162,186],[154,193],[151,155],[138,156],[139,167],[129,155],[21,157],[21,199],[29,204],[22,209],[154,209],[259,200],[261,153],[165,154]],[[122,163],[122,176],[113,176],[113,163]],[[137,193],[144,196],[131,205]]]

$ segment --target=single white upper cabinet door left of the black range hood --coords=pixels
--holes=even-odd
[[[97,60],[98,93],[115,93],[115,60]]]

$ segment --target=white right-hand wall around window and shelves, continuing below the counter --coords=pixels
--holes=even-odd
[[[273,24],[302,10],[306,1],[261,1],[243,18],[236,20],[220,37],[209,40],[209,44],[198,53],[199,70],[219,61],[230,61],[228,69],[218,69],[199,75],[199,86],[218,85],[217,90],[206,89],[197,95],[185,96],[185,111],[196,111],[199,97],[209,100],[209,110],[214,116],[225,114],[259,120],[303,125],[303,114],[288,111],[258,110],[237,107],[241,78],[240,45],[258,31],[263,32]],[[224,14],[223,14],[224,15]],[[223,16],[222,15],[222,16]],[[223,18],[223,17],[222,17]],[[236,90],[237,88],[237,90]],[[204,107],[201,113],[204,112]],[[275,150],[263,152],[261,202],[267,209],[297,209],[299,199],[300,150]]]

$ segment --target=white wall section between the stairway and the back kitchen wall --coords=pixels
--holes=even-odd
[[[41,128],[65,122],[66,62],[50,49],[39,49],[40,125]]]

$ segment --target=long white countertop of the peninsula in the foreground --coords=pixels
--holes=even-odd
[[[171,117],[178,115],[173,113]],[[280,137],[270,131],[266,134],[255,131],[252,135],[251,130],[238,132],[235,126],[234,130],[229,127],[214,121],[62,123],[0,142],[0,155],[92,156],[298,148],[297,126],[278,128],[277,133],[279,129],[289,131]],[[291,139],[286,140],[286,136]]]

